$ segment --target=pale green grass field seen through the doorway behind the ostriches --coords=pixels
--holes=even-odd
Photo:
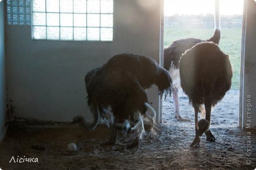
[[[172,41],[184,38],[209,39],[213,28],[164,28],[163,43],[167,47]],[[220,48],[229,55],[233,67],[232,89],[239,89],[242,28],[222,28]]]

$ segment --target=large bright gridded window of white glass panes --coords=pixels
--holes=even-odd
[[[113,0],[32,0],[32,38],[112,41]]]

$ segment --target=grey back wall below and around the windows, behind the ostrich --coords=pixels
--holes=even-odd
[[[160,61],[161,0],[114,0],[113,42],[32,40],[30,26],[6,26],[7,98],[17,117],[92,120],[84,76],[120,53]],[[159,113],[157,88],[148,90]]]

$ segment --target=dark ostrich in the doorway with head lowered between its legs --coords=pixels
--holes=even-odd
[[[203,133],[206,140],[215,142],[210,131],[211,108],[230,89],[232,69],[228,55],[217,44],[201,42],[187,50],[180,59],[180,78],[184,92],[189,96],[195,113],[195,138],[191,147],[200,147]],[[205,105],[206,116],[198,122],[200,105]]]

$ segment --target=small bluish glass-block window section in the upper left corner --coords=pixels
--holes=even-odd
[[[30,0],[6,0],[9,25],[31,25]]]

